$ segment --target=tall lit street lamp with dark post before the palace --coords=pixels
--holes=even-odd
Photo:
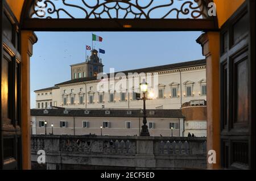
[[[148,127],[147,127],[147,116],[146,116],[146,92],[147,92],[147,82],[145,79],[143,79],[142,83],[139,84],[141,86],[141,92],[143,93],[142,99],[138,100],[143,100],[143,125],[141,129],[141,135],[140,136],[150,136],[150,133],[148,132]]]

